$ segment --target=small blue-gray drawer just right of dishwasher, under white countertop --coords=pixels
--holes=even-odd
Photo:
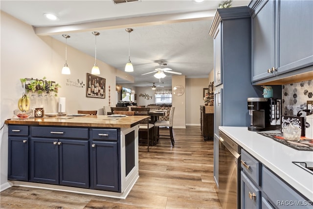
[[[255,184],[261,186],[261,163],[243,149],[241,150],[241,167]]]

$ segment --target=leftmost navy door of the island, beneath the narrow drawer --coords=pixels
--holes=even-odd
[[[8,179],[28,181],[28,138],[9,137]]]

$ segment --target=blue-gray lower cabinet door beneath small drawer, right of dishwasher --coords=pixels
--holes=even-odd
[[[261,209],[261,191],[241,171],[241,208]]]

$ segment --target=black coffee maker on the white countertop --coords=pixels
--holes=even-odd
[[[247,107],[251,117],[249,131],[268,131],[280,128],[281,99],[249,97]]]

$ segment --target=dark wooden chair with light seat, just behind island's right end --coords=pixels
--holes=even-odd
[[[135,116],[149,116],[149,111],[150,111],[150,108],[147,108],[147,107],[132,107],[132,111],[134,111],[135,113]],[[139,124],[139,135],[140,135],[140,132],[147,132],[147,150],[149,152],[149,143],[150,143],[150,133],[151,136],[152,136],[152,143],[154,144],[154,124],[151,124],[149,123],[149,118],[147,118],[145,120],[144,123],[140,123]]]

